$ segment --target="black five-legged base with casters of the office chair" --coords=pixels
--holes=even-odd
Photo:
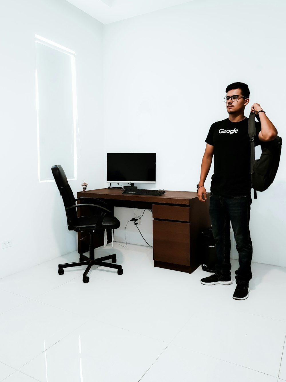
[[[123,274],[122,265],[111,264],[111,263],[105,262],[106,260],[111,260],[112,263],[115,263],[116,262],[116,254],[103,256],[103,257],[99,257],[98,259],[95,259],[95,255],[94,255],[95,249],[94,249],[94,243],[93,243],[93,231],[89,232],[88,234],[90,237],[89,257],[87,257],[83,254],[80,254],[79,255],[80,261],[72,262],[72,263],[66,263],[66,264],[59,264],[59,271],[58,271],[59,275],[64,274],[64,268],[78,267],[79,265],[87,265],[87,268],[85,269],[84,275],[82,277],[82,281],[84,283],[89,282],[89,277],[87,274],[93,265],[99,265],[99,266],[103,266],[103,267],[117,269],[117,275],[122,275]]]

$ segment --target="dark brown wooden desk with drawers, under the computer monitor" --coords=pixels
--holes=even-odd
[[[199,231],[210,227],[209,198],[202,203],[196,192],[166,191],[161,196],[145,196],[122,194],[115,188],[81,191],[77,197],[102,199],[112,212],[113,207],[151,209],[154,267],[191,273],[201,264],[196,241]],[[88,251],[80,233],[78,240],[79,253]],[[98,238],[97,246],[102,244],[102,238]]]

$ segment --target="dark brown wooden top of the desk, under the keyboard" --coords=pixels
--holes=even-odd
[[[126,201],[141,201],[162,204],[185,204],[190,205],[192,199],[197,199],[197,193],[191,191],[165,191],[160,196],[122,194],[118,188],[101,188],[89,191],[80,191],[77,197],[97,197],[100,199],[116,199]]]

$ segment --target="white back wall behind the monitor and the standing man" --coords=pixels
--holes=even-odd
[[[285,11],[284,0],[201,0],[104,26],[105,153],[156,152],[154,188],[194,191],[204,140],[227,118],[225,87],[235,81],[285,136]],[[286,266],[285,162],[283,150],[275,183],[252,203],[256,262]],[[116,214],[122,238],[133,210]]]

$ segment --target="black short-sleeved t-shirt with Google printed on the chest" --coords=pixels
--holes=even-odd
[[[260,122],[255,121],[255,146],[260,144]],[[248,118],[231,122],[228,118],[210,126],[206,142],[214,146],[214,175],[210,191],[223,196],[244,196],[251,191],[250,139]]]

